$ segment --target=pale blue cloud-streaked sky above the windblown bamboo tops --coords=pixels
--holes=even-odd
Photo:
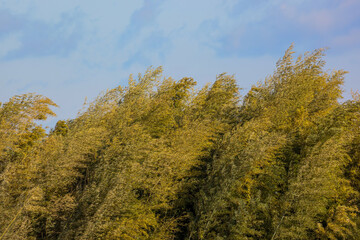
[[[344,69],[345,98],[360,89],[360,0],[0,0],[0,102],[38,93],[75,118],[85,98],[130,74],[213,82],[234,74],[243,94],[295,44],[327,47],[326,69]]]

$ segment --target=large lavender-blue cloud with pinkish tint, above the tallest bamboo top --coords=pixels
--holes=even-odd
[[[201,41],[219,57],[276,54],[291,42],[301,49],[333,47],[341,43],[335,38],[355,34],[359,12],[353,0],[237,1],[223,17],[204,21],[198,33],[210,36]]]

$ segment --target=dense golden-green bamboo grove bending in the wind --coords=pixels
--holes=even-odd
[[[323,55],[244,97],[149,69],[49,134],[50,99],[0,103],[0,240],[358,239],[360,98]]]

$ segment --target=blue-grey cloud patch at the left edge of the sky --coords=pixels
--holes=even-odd
[[[12,42],[16,43],[3,51],[2,60],[67,56],[76,49],[83,34],[80,16],[78,12],[64,14],[58,23],[48,24],[1,11],[0,35],[3,39],[12,38]]]

